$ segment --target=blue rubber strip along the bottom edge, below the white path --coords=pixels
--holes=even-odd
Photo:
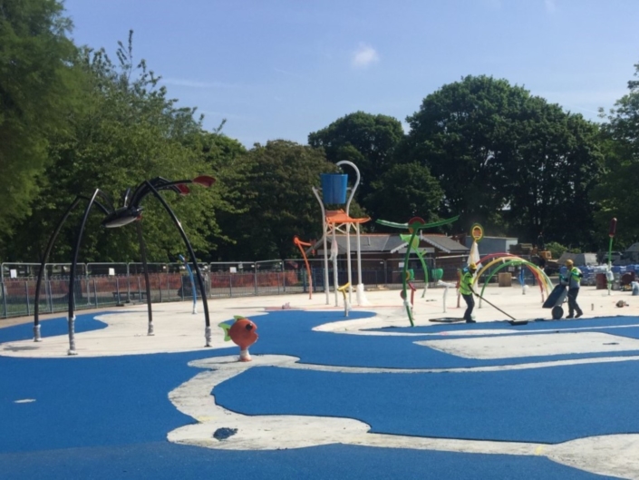
[[[149,442],[0,454],[4,480],[242,479],[603,480],[541,456],[421,452],[362,446],[316,446],[275,452],[233,452]]]

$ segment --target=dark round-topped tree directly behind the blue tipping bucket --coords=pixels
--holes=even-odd
[[[402,142],[402,123],[387,115],[356,112],[345,115],[327,127],[308,135],[308,144],[324,148],[329,162],[347,160],[357,165],[361,183],[357,191],[363,208],[373,216],[373,202],[369,197],[375,191],[380,176],[395,162],[394,153]],[[353,171],[345,169],[349,176]]]

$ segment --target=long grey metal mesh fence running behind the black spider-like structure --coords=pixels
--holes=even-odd
[[[413,270],[413,284],[424,285],[428,278],[434,286],[434,270],[441,269],[442,279],[456,281],[458,269],[464,258],[437,259],[437,264],[428,259],[427,272],[421,261],[411,258],[409,268]],[[312,285],[313,291],[324,292],[326,279],[324,259],[309,259],[310,277],[302,259],[233,261],[199,264],[208,299],[248,297],[258,295],[282,295],[306,293]],[[402,288],[402,260],[363,258],[362,282],[358,278],[357,260],[352,260],[351,280],[353,285],[363,283],[367,288]],[[41,314],[58,313],[69,306],[70,263],[47,263],[44,266],[43,284],[40,291]],[[191,272],[189,273],[189,269]],[[195,290],[201,298],[197,272],[193,264],[149,263],[150,299],[153,302],[168,302],[193,299]],[[0,268],[0,318],[23,317],[34,314],[35,288],[40,264],[2,263]],[[328,262],[328,287],[334,288],[334,266]],[[193,280],[191,280],[191,274]],[[428,276],[426,276],[428,274]],[[337,283],[348,281],[348,261],[337,260]],[[71,293],[74,309],[99,309],[124,304],[146,303],[147,284],[142,263],[79,263],[76,265],[75,281]]]

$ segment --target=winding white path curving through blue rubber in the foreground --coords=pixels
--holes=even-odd
[[[190,362],[191,367],[206,368],[207,371],[198,373],[171,391],[169,400],[180,412],[192,416],[198,423],[169,432],[168,440],[183,445],[224,450],[277,450],[341,443],[460,453],[547,456],[554,462],[598,475],[639,478],[639,435],[594,436],[557,445],[383,435],[369,433],[370,426],[352,418],[245,416],[216,404],[215,387],[247,368],[274,366],[325,369],[323,366],[300,365],[296,362],[297,358],[277,355],[256,356],[251,363],[240,363],[236,358],[229,357]],[[508,366],[500,368],[507,369]],[[339,371],[339,367],[335,369]],[[359,368],[345,370],[358,370],[358,373],[362,373]],[[371,370],[364,373],[373,373]],[[406,373],[405,370],[396,372]],[[384,370],[384,373],[388,371]],[[218,428],[236,429],[237,433],[218,440],[214,437]]]

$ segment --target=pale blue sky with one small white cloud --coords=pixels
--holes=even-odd
[[[489,75],[601,121],[639,64],[638,0],[66,0],[76,44],[133,30],[179,106],[242,142],[305,144],[349,113],[404,124],[423,99]]]

